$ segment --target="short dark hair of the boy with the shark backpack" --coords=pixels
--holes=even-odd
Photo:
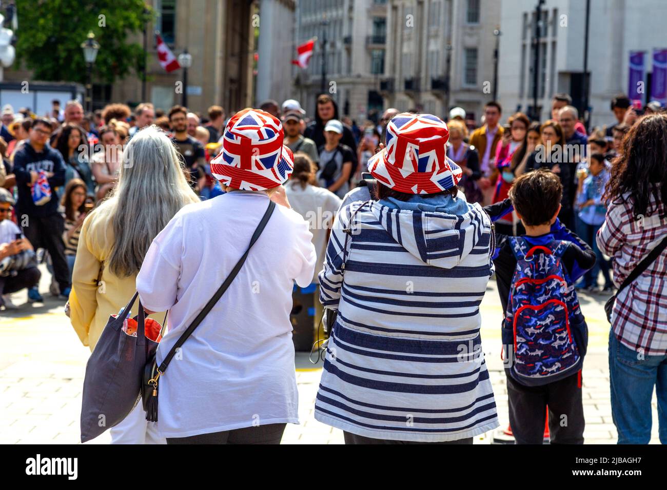
[[[548,169],[524,173],[514,181],[510,199],[525,226],[548,223],[558,211],[563,185],[558,175]]]

